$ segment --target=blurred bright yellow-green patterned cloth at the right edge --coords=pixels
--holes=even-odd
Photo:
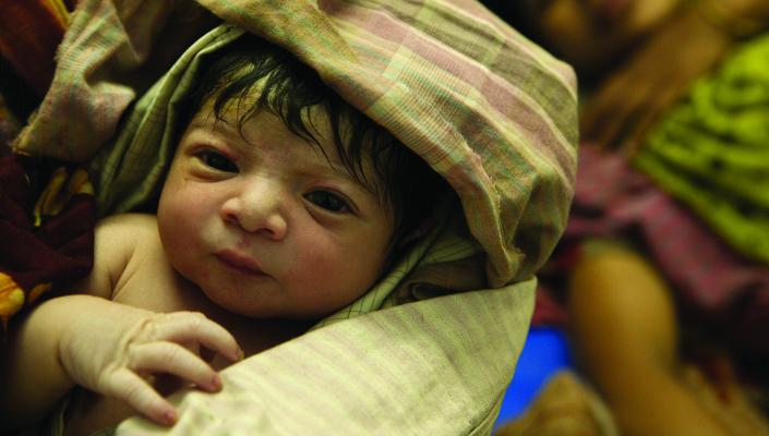
[[[769,35],[698,81],[635,165],[738,252],[769,264]]]

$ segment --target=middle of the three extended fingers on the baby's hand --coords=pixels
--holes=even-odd
[[[137,373],[168,373],[215,392],[221,389],[221,378],[192,351],[173,342],[151,342],[134,346],[131,367]]]

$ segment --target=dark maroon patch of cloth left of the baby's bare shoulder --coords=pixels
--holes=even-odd
[[[16,155],[0,158],[0,274],[5,276],[0,278],[5,291],[11,283],[24,292],[25,306],[36,286],[75,280],[93,266],[93,195],[76,193],[60,211],[35,223],[35,203],[48,185],[50,169],[59,168],[51,165]],[[0,294],[0,300],[8,295]],[[8,310],[8,301],[0,301],[0,307]],[[0,315],[7,320],[13,313]]]

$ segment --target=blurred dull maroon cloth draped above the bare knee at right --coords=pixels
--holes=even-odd
[[[632,239],[669,280],[682,313],[730,347],[769,359],[769,267],[731,250],[683,205],[618,155],[582,146],[569,223],[543,271],[534,324],[563,324],[565,269],[586,238]]]

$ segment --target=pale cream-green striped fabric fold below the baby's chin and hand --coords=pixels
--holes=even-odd
[[[315,330],[189,391],[172,429],[117,435],[488,435],[522,347],[533,280],[373,312]]]

